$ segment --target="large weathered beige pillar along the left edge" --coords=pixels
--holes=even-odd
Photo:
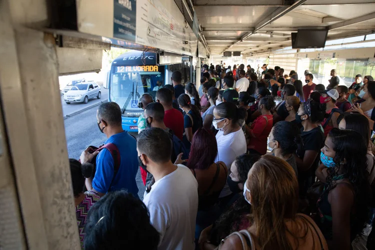
[[[43,21],[46,10],[39,4],[45,1],[0,1],[0,97],[8,156],[27,247],[79,249],[54,37],[19,21]]]

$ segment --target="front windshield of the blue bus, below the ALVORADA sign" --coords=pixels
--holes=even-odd
[[[112,73],[110,79],[110,100],[122,110],[139,110],[138,99],[143,93],[155,92],[163,84],[160,72],[120,72]]]

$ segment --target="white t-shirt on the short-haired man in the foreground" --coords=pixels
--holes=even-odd
[[[158,249],[194,249],[198,182],[189,168],[178,164],[152,185],[143,202],[151,224],[160,233]]]

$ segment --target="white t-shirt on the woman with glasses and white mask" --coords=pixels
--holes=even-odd
[[[242,129],[224,135],[223,131],[216,134],[217,156],[215,162],[223,161],[227,168],[233,163],[235,157],[246,152],[246,138]],[[219,197],[225,197],[231,193],[229,186],[225,183]]]

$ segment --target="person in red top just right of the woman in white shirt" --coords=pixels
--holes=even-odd
[[[248,153],[259,153],[261,155],[267,152],[267,138],[273,125],[273,116],[271,109],[275,106],[272,96],[265,96],[259,100],[260,115],[251,123],[250,128],[246,128],[246,134],[250,139],[247,143]]]

